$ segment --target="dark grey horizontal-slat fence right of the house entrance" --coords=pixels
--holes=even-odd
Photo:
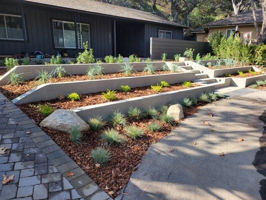
[[[209,42],[189,41],[180,39],[164,39],[152,37],[150,41],[150,57],[160,59],[163,52],[167,53],[167,59],[172,59],[175,53],[183,55],[187,48],[194,48],[194,55],[209,52]]]

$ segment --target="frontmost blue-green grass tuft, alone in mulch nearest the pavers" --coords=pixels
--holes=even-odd
[[[91,157],[95,163],[103,165],[111,159],[111,153],[104,147],[97,147],[91,150]]]

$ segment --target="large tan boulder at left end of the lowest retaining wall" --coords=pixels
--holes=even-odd
[[[81,132],[89,129],[89,125],[75,112],[65,109],[55,110],[40,122],[40,126],[68,133],[74,126]]]

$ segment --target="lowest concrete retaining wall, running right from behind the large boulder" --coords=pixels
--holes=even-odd
[[[71,110],[75,111],[77,115],[79,115],[84,121],[87,121],[88,118],[96,116],[98,114],[106,118],[115,110],[126,113],[131,106],[139,108],[148,108],[149,106],[154,106],[158,108],[164,104],[174,104],[181,102],[186,96],[197,97],[204,91],[211,92],[214,90],[215,84],[211,84],[96,105],[89,105],[85,107],[78,107]]]

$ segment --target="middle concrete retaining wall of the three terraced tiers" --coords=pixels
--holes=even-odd
[[[129,85],[131,88],[157,84],[160,81],[167,81],[169,84],[183,82],[185,80],[194,81],[195,72],[179,72],[167,74],[154,74],[145,76],[83,80],[72,82],[46,83],[13,99],[15,104],[22,104],[41,100],[51,100],[59,94],[66,96],[71,92],[79,94],[94,93],[107,89],[120,89],[120,85]]]

